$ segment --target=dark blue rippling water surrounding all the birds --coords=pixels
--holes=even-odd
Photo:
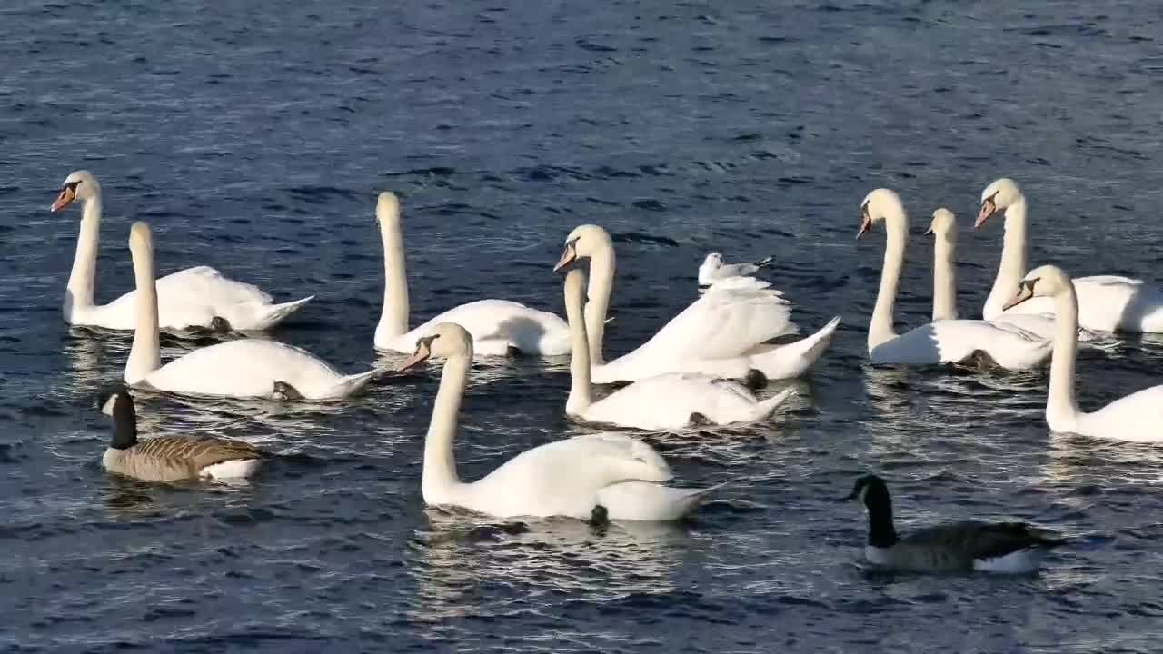
[[[1032,262],[1158,280],[1163,21],[1141,2],[69,2],[0,7],[0,644],[19,652],[1154,652],[1163,456],[1048,434],[1044,371],[866,363],[883,237],[863,196],[914,216],[898,319],[928,315],[922,221],[962,219],[961,307],[1030,199]],[[277,332],[354,371],[374,360],[374,194],[405,202],[413,321],[501,297],[561,310],[566,233],[616,237],[608,349],[694,297],[709,249],[773,255],[815,329],[844,318],[770,426],[651,436],[692,483],[690,525],[502,525],[422,507],[431,375],[334,407],[140,396],[150,434],[280,453],[249,485],[112,478],[92,407],[129,336],[71,332],[79,213],[105,187],[98,298],[131,287],[148,220],[162,272],[209,264],[319,299]],[[164,355],[191,347],[169,343]],[[1163,343],[1084,353],[1085,407],[1163,379]],[[475,372],[457,453],[475,478],[578,433],[563,361]],[[898,527],[1034,520],[1078,536],[1043,574],[869,576],[856,505],[876,470]]]

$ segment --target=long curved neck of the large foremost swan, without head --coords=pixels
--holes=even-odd
[[[452,439],[456,438],[461,399],[469,382],[472,365],[472,348],[468,354],[449,357],[440,378],[440,390],[433,405],[433,419],[424,438],[424,468],[420,477],[420,489],[428,504],[449,504],[450,495],[461,486],[452,456]]]

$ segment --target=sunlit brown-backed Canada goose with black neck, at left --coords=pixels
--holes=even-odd
[[[147,482],[177,482],[250,477],[262,467],[263,452],[242,441],[172,436],[138,441],[134,399],[123,389],[102,393],[98,406],[113,417],[113,438],[101,457],[110,472]]]

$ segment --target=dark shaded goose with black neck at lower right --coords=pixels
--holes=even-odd
[[[889,486],[876,475],[856,479],[852,493],[869,511],[864,559],[877,567],[909,573],[1021,574],[1036,570],[1050,549],[1062,545],[1051,532],[1022,523],[950,523],[904,538],[892,525]]]

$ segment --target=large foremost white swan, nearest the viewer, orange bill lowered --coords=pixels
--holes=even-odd
[[[456,472],[452,439],[472,365],[472,336],[452,322],[421,336],[404,364],[447,358],[424,439],[424,504],[459,506],[497,518],[675,520],[713,489],[675,489],[666,461],[649,445],[618,433],[586,434],[526,450],[476,482]]]

